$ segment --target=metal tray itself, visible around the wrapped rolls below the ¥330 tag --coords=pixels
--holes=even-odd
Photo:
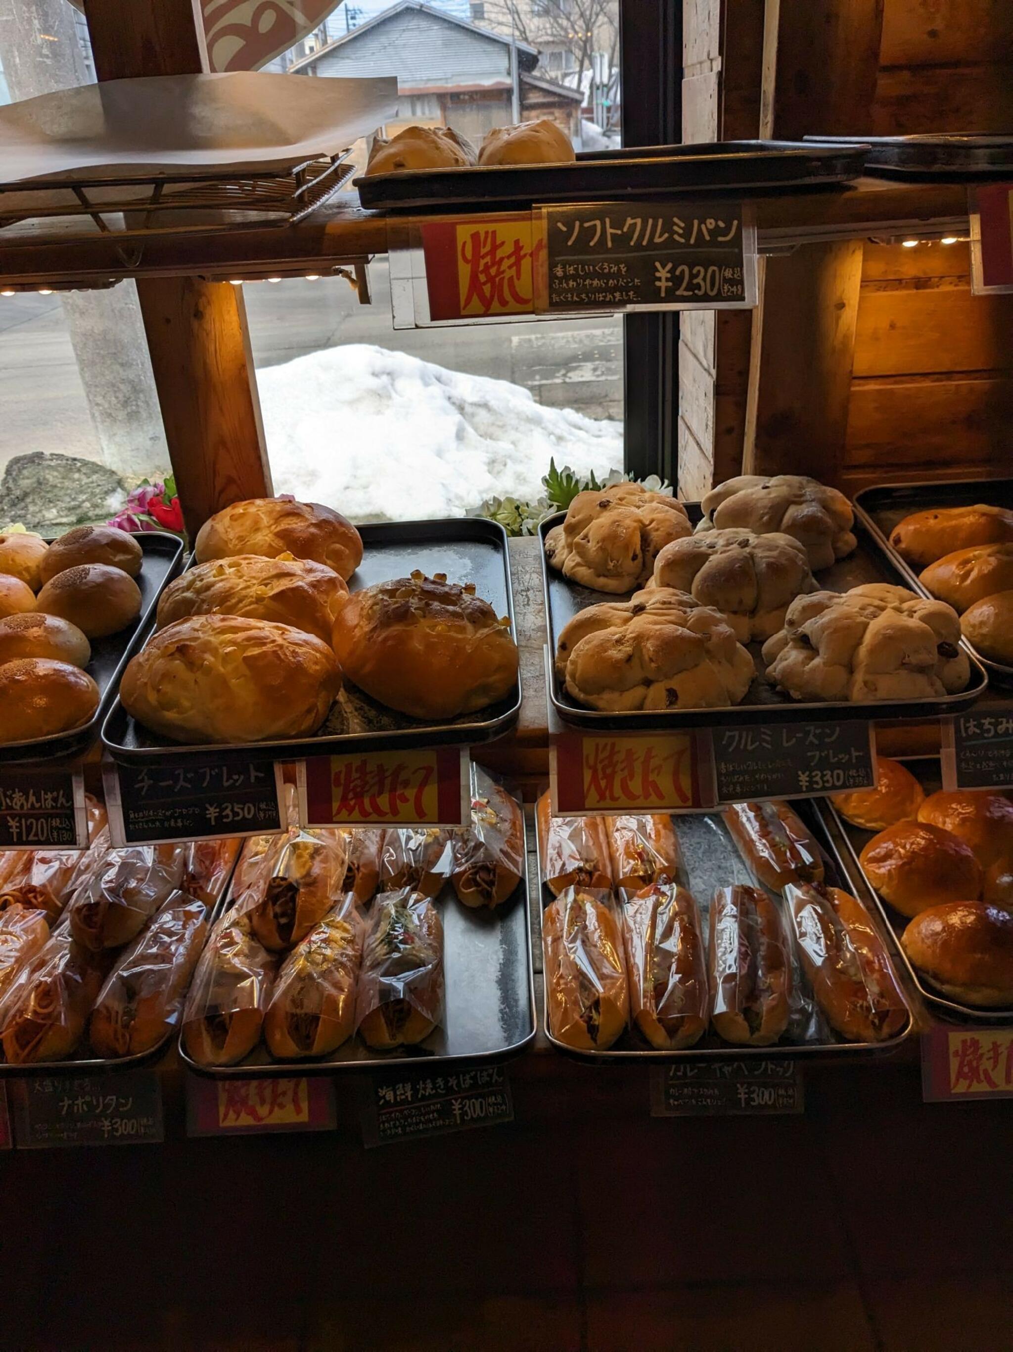
[[[793,800],[791,806],[813,833],[813,838],[817,845],[821,846],[827,882],[832,887],[841,887],[844,891],[855,892],[850,871],[844,868],[839,856],[832,849],[824,823],[812,808],[812,799]],[[704,948],[706,949],[710,899],[715,894],[715,888],[737,883],[746,883],[751,887],[756,887],[758,884],[739,854],[733,840],[721,823],[720,813],[683,813],[673,817],[671,823],[679,842],[683,883],[697,899],[697,906],[700,907]],[[542,910],[544,911],[554,898],[548,884],[542,882],[543,875],[538,833],[535,833],[535,845],[539,896]],[[767,895],[774,898],[778,906],[782,907],[781,898],[777,892],[767,892]],[[616,904],[621,906],[623,903],[616,902]],[[889,942],[887,950],[890,950],[890,957],[895,967],[895,955],[891,952],[891,945]],[[801,980],[806,995],[812,998],[812,990],[805,979],[805,975],[797,972],[797,976]],[[823,1015],[820,1015],[820,1018],[823,1019]],[[901,1042],[904,1042],[906,1037],[910,1036],[913,1029],[913,1019],[910,1017],[909,1007],[906,1026],[895,1037],[887,1038],[883,1042],[846,1042],[843,1038],[837,1038],[833,1030],[824,1021],[827,1040],[820,1042],[781,1041],[775,1042],[773,1046],[736,1046],[732,1042],[725,1042],[717,1036],[717,1033],[713,1032],[713,1029],[708,1028],[701,1040],[693,1046],[683,1046],[679,1051],[659,1051],[658,1048],[648,1046],[647,1042],[642,1042],[636,1034],[627,1028],[625,1033],[623,1033],[619,1041],[615,1042],[606,1052],[579,1052],[573,1046],[566,1046],[563,1042],[559,1042],[555,1037],[552,1037],[548,1026],[548,982],[544,977],[542,983],[542,1023],[546,1030],[546,1037],[556,1052],[562,1052],[565,1056],[573,1056],[581,1061],[635,1061],[643,1059],[654,1061],[794,1060],[824,1055],[839,1056],[840,1053],[877,1057],[883,1055],[889,1056],[897,1046],[901,1045]]]

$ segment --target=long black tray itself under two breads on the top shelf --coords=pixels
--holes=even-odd
[[[467,165],[400,169],[354,178],[363,207],[529,206],[602,201],[735,191],[739,197],[771,188],[844,184],[858,178],[864,143],[721,141],[689,146],[633,146],[582,151],[570,164]]]

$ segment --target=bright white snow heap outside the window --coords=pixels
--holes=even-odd
[[[462,516],[488,498],[542,496],[548,461],[600,479],[623,468],[623,425],[538,404],[369,343],[258,370],[274,491],[353,521]]]

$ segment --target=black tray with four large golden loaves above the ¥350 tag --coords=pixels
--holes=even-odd
[[[115,761],[203,761],[215,754],[211,744],[265,760],[465,745],[498,737],[516,722],[521,695],[501,526],[461,518],[357,531],[328,508],[281,499],[228,511],[262,515],[265,507],[276,515],[315,514],[313,529],[340,523],[355,552],[340,562],[340,575],[319,561],[339,566],[305,534],[270,545],[258,538],[255,548],[244,538],[216,538],[217,553],[205,545],[201,561],[212,518],[197,537],[194,565],[166,594],[159,627],[105,719],[103,742]],[[278,545],[286,550],[281,557],[251,557]],[[304,553],[293,558],[300,548]],[[336,619],[311,595],[320,575],[347,598],[335,607]],[[455,703],[442,707],[446,699]],[[470,711],[448,714],[451,707]]]

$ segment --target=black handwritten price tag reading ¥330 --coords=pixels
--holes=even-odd
[[[715,727],[715,776],[723,803],[839,794],[875,784],[873,725],[771,723]]]

